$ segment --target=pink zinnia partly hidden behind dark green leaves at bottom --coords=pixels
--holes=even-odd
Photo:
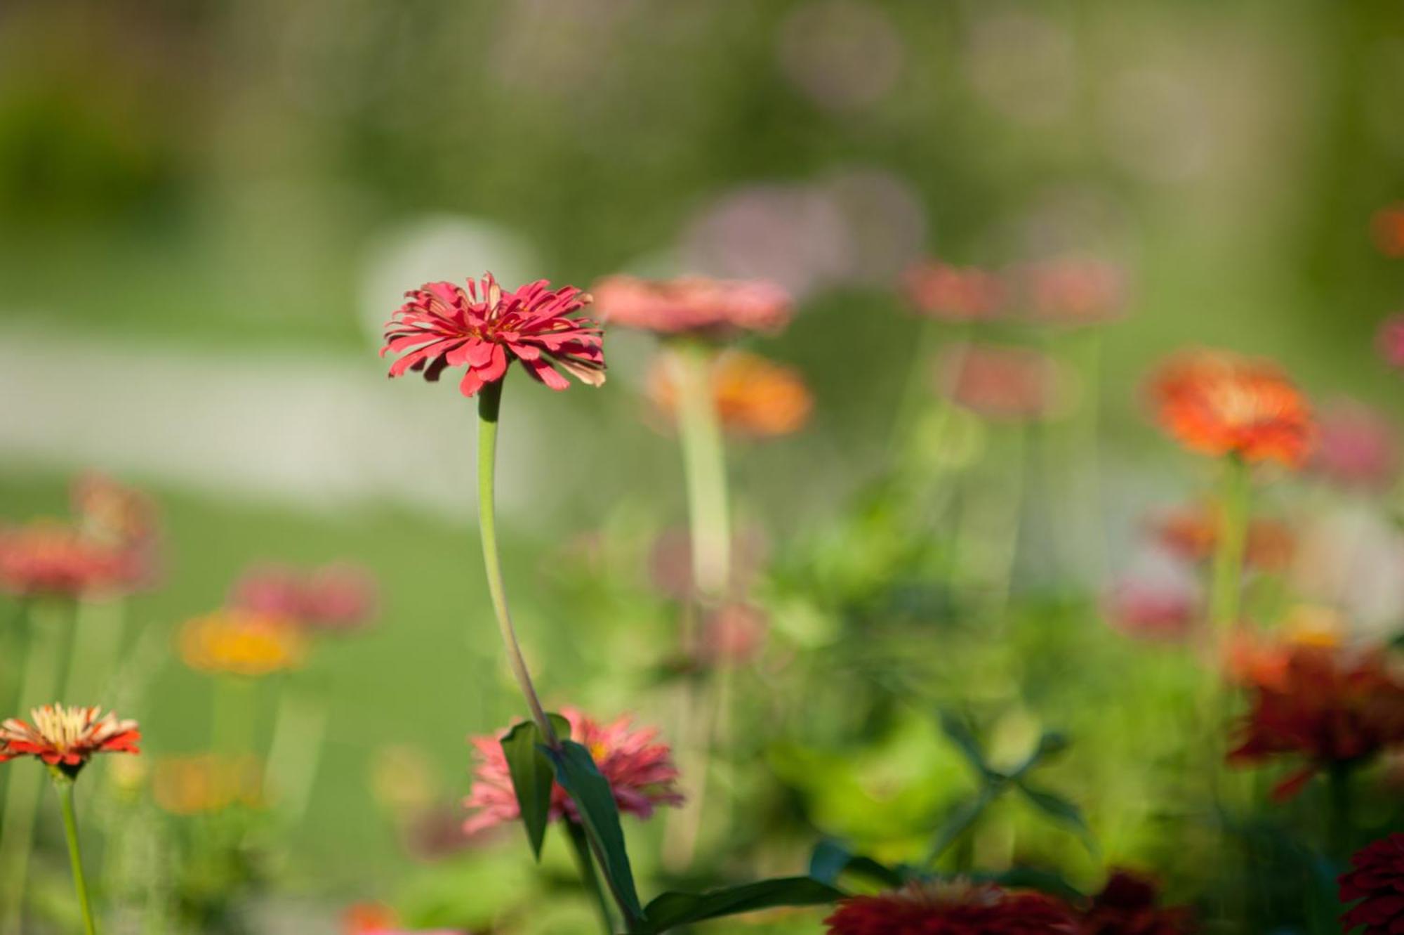
[[[570,740],[590,750],[600,772],[609,781],[619,811],[647,818],[654,806],[682,804],[682,795],[675,785],[678,768],[673,764],[673,751],[667,744],[654,743],[656,730],[630,730],[628,716],[601,724],[574,708],[562,708],[560,713],[570,722]],[[473,769],[473,789],[463,802],[473,811],[463,824],[466,834],[521,817],[507,757],[503,755],[501,740],[505,736],[504,730],[472,738],[477,748],[477,767]],[[574,818],[576,806],[556,783],[550,790],[550,818],[562,816]]]

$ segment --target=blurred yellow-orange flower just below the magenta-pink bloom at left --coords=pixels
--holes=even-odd
[[[306,647],[289,621],[250,611],[215,611],[180,630],[181,660],[202,672],[268,675],[300,665]]]

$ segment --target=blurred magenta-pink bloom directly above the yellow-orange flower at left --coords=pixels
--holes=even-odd
[[[234,583],[229,602],[310,630],[350,630],[375,614],[376,588],[371,573],[352,564],[327,564],[310,571],[264,564]]]

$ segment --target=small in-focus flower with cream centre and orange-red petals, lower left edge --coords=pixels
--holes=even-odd
[[[142,734],[135,720],[121,720],[97,706],[45,705],[28,722],[10,717],[0,724],[0,761],[37,757],[70,776],[100,752],[138,752]]]

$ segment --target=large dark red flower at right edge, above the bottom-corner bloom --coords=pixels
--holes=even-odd
[[[1251,679],[1252,699],[1228,761],[1306,758],[1273,789],[1278,800],[1290,799],[1323,768],[1359,764],[1404,744],[1404,682],[1382,653],[1289,644],[1280,664],[1240,667],[1240,678]]]

